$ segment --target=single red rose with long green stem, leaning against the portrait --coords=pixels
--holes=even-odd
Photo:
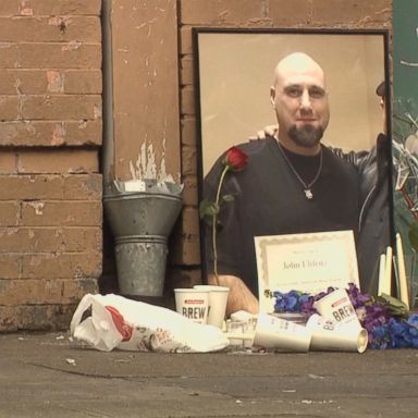
[[[213,251],[213,273],[218,282],[218,250],[217,250],[217,230],[218,230],[218,216],[220,213],[223,202],[233,201],[232,195],[222,195],[222,185],[225,175],[229,172],[237,172],[243,170],[248,162],[248,156],[237,147],[231,147],[222,161],[223,169],[219,179],[218,189],[214,201],[207,199],[202,200],[199,206],[200,219],[206,220],[212,228],[212,251]]]

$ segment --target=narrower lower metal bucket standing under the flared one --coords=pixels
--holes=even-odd
[[[164,236],[116,237],[115,259],[120,293],[133,296],[162,296],[167,253]]]

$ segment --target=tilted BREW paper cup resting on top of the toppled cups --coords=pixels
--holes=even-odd
[[[314,308],[317,309],[322,317],[329,318],[339,324],[345,323],[357,330],[361,329],[356,310],[344,288],[337,288],[317,300],[314,304]]]

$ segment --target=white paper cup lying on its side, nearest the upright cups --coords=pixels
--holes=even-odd
[[[254,345],[282,352],[309,349],[311,331],[306,327],[271,315],[259,314]]]

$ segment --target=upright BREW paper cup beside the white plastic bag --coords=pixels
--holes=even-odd
[[[207,323],[209,292],[197,288],[174,288],[175,309],[194,322]]]

